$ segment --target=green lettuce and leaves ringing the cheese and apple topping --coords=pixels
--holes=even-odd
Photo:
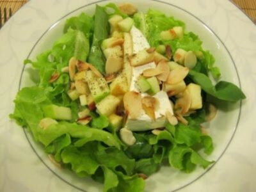
[[[204,122],[204,108],[186,118],[188,125],[168,124],[157,136],[150,131],[134,132],[136,143],[129,147],[111,129],[106,116],[92,113],[93,120],[89,125],[76,123],[77,112],[82,107],[68,97],[70,81],[67,74],[61,73],[61,68],[68,66],[68,60],[75,56],[79,60],[89,61],[104,73],[105,58],[100,43],[109,36],[108,8],[114,9],[115,14],[127,17],[115,4],[96,6],[94,17],[82,13],[68,19],[63,36],[51,50],[38,55],[36,61],[25,61],[39,71],[40,81],[36,86],[20,90],[10,118],[29,129],[35,140],[42,143],[45,152],[52,154],[63,166],[80,177],[92,177],[103,182],[104,191],[143,191],[145,182],[137,173],[149,176],[157,172],[163,162],[186,173],[193,172],[196,165],[207,168],[214,161],[207,161],[198,154],[202,149],[205,154],[211,154],[213,150],[211,137],[200,131],[200,124]],[[202,49],[198,36],[189,32],[180,40],[163,42],[159,39],[159,33],[163,30],[173,26],[185,28],[183,22],[155,10],[149,10],[146,14],[136,13],[133,18],[152,46],[164,44],[171,45],[172,51],[182,48],[204,53],[204,59],[198,61],[199,67],[189,72],[188,81],[195,81],[205,93],[221,100],[244,99],[243,92],[234,84],[221,81],[216,86],[212,85],[207,72],[219,77],[220,71],[213,66],[212,55]],[[59,72],[60,77],[54,83],[49,83],[54,72]],[[45,130],[40,128],[38,124],[45,117],[42,109],[49,104],[71,108],[72,120],[60,121]]]

